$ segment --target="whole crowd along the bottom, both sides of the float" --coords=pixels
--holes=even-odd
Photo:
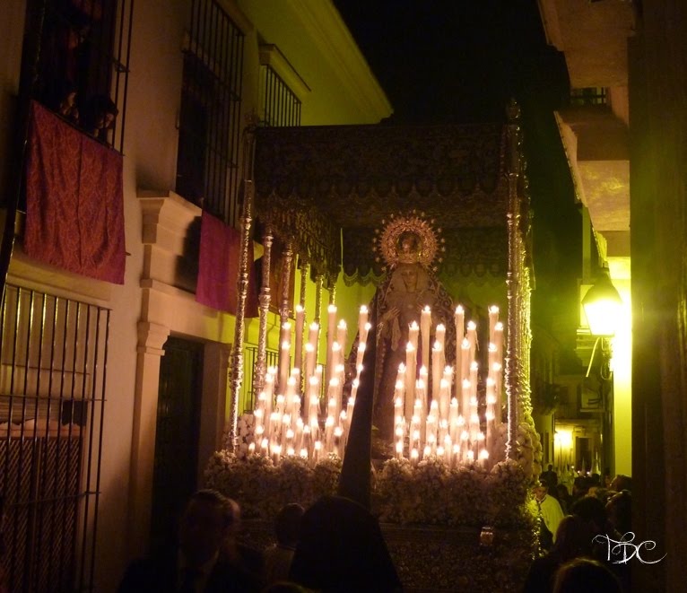
[[[551,471],[551,468],[549,469]],[[543,554],[532,563],[523,593],[629,591],[629,563],[612,562],[608,542],[630,531],[631,480],[612,488],[556,497],[561,484],[534,489],[542,523]],[[168,547],[132,562],[119,593],[402,590],[381,530],[368,510],[342,496],[326,496],[303,509],[290,503],[274,520],[274,544],[256,550],[239,542],[240,509],[214,490],[191,496]]]

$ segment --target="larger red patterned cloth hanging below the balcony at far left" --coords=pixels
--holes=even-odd
[[[35,101],[24,250],[76,274],[124,283],[122,155]]]

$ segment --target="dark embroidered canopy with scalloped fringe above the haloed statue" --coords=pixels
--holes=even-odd
[[[445,272],[503,277],[507,144],[500,124],[259,128],[257,215],[316,273],[335,278],[343,265],[365,283],[382,273],[375,229],[415,209],[442,231]]]

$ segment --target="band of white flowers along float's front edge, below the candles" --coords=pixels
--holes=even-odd
[[[317,462],[251,454],[243,458],[217,451],[205,469],[205,484],[237,500],[246,518],[273,519],[287,502],[308,507],[336,493],[342,462],[335,455]],[[372,510],[379,520],[404,525],[522,527],[529,475],[517,460],[500,461],[491,471],[449,467],[430,457],[416,465],[389,459],[371,475]]]

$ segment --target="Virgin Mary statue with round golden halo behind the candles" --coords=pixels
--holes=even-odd
[[[419,326],[422,310],[430,307],[430,349],[436,326],[443,324],[446,363],[451,365],[456,353],[456,329],[453,301],[431,268],[439,251],[439,239],[429,222],[414,214],[393,218],[380,233],[376,250],[385,260],[387,276],[370,303],[370,320],[377,331],[375,336],[368,337],[366,347],[377,349],[372,423],[378,440],[391,443],[394,391],[398,366],[406,362],[409,327],[413,321]],[[350,376],[354,376],[357,347],[356,339],[348,359]],[[417,355],[419,370],[422,347]]]

